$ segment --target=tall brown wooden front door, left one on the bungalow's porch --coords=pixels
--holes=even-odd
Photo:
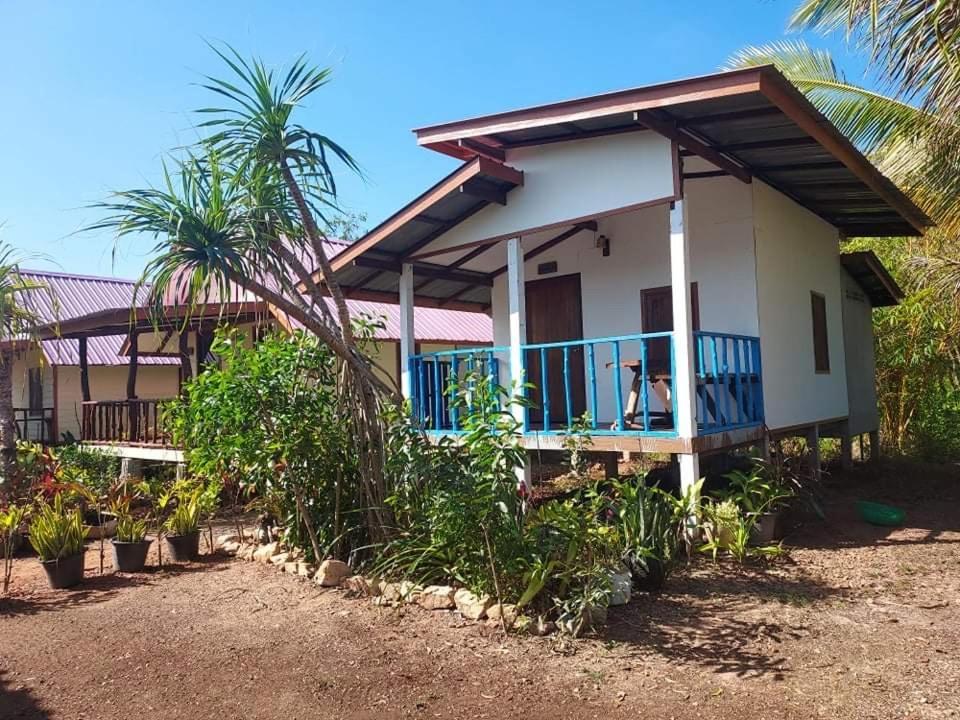
[[[583,312],[580,299],[580,275],[532,280],[526,285],[527,342],[551,343],[583,339]],[[586,411],[583,347],[570,348],[570,398],[574,418]],[[527,380],[536,385],[529,398],[530,423],[543,427],[543,396],[541,384],[541,353],[530,350],[526,354]],[[567,424],[566,395],[563,382],[563,350],[546,351],[547,386],[550,399],[550,425]]]

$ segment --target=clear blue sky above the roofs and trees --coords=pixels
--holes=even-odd
[[[191,142],[205,40],[334,68],[299,120],[344,145],[342,204],[372,226],[454,166],[410,129],[716,70],[783,37],[796,0],[633,2],[43,2],[0,0],[0,236],[30,266],[135,277],[152,247],[74,234],[110,190],[156,182]],[[857,76],[839,39],[834,50]]]

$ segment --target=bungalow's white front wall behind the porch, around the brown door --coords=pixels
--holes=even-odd
[[[698,286],[703,330],[758,335],[756,268],[753,257],[750,186],[733,178],[689,182],[685,188],[691,281]],[[599,221],[596,236],[610,238],[603,257],[595,235],[581,232],[525,264],[527,281],[580,273],[585,338],[643,332],[641,291],[670,284],[669,205],[663,204]],[[530,247],[555,234],[529,236]],[[537,265],[555,261],[557,272],[537,275]],[[497,277],[492,297],[494,344],[509,344],[506,275]],[[625,343],[621,356],[638,357],[637,344]],[[613,417],[614,390],[608,346],[597,348],[598,419]],[[506,355],[501,354],[501,368]],[[506,377],[501,373],[501,377]],[[626,397],[632,372],[621,371]],[[537,378],[531,379],[537,382]],[[659,409],[651,393],[651,409]]]

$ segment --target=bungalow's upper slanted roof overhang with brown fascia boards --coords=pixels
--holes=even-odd
[[[540,105],[414,130],[469,160],[512,148],[649,129],[724,174],[756,177],[845,235],[912,236],[929,218],[772,65]],[[687,179],[702,177],[691,173]]]

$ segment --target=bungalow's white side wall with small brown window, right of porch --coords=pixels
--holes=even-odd
[[[754,180],[763,397],[771,429],[847,415],[839,234]],[[826,298],[830,372],[814,370],[811,291]]]

